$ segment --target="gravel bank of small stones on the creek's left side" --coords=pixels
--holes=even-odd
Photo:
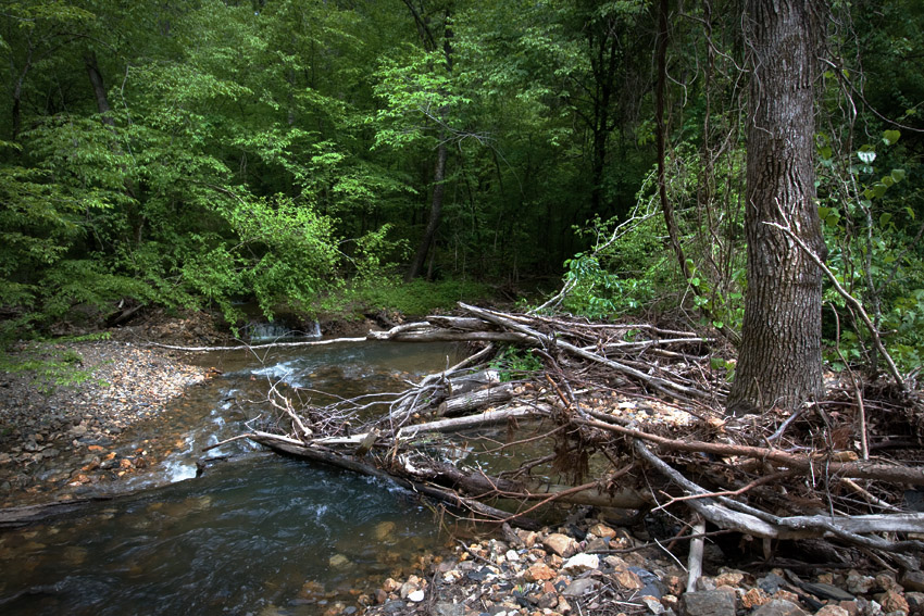
[[[66,374],[0,374],[0,507],[73,498],[168,454],[171,443],[126,450],[123,435],[155,419],[166,404],[209,377],[175,351],[103,340],[18,349],[65,357]],[[13,357],[16,357],[14,350]],[[70,382],[55,382],[64,378]]]

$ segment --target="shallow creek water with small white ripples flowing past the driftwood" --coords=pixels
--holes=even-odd
[[[355,589],[439,546],[433,513],[390,482],[248,441],[210,452],[234,461],[193,478],[201,448],[245,431],[269,384],[352,397],[397,389],[453,355],[445,344],[379,342],[204,357],[223,376],[124,435],[126,448],[164,449],[163,464],[130,483],[140,491],[0,535],[0,613],[269,616],[349,605]]]

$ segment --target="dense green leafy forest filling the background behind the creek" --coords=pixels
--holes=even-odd
[[[546,277],[563,289],[547,307],[683,315],[746,349],[772,323],[746,303],[796,298],[778,323],[804,325],[798,353],[815,357],[785,377],[809,375],[797,398],[817,391],[822,352],[908,375],[924,10],[817,2],[774,29],[776,9],[2,2],[3,336],[138,306],[234,324],[242,301],[311,314],[402,279],[516,293]],[[741,355],[744,406],[787,395],[745,391],[767,357]]]

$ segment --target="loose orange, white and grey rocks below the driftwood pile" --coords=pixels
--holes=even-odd
[[[670,539],[667,540],[670,542]],[[663,543],[662,543],[663,545]],[[680,551],[678,551],[680,552]],[[710,552],[710,550],[708,550]],[[587,519],[540,532],[460,544],[402,580],[386,580],[367,614],[438,616],[922,616],[924,574],[859,571],[842,564],[794,568],[725,566],[714,545],[706,575],[686,592],[675,554]],[[803,564],[797,564],[803,566]],[[337,606],[325,612],[337,613]]]

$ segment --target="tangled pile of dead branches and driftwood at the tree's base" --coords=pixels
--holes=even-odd
[[[296,408],[274,389],[277,430],[239,438],[388,476],[477,519],[530,526],[555,504],[670,508],[689,528],[706,520],[762,539],[764,552],[774,540],[803,538],[924,548],[924,467],[899,460],[924,445],[920,400],[835,385],[828,400],[795,414],[726,417],[715,340],[461,306],[463,316],[370,334],[480,348],[458,365],[403,391],[327,406]],[[498,344],[541,367],[512,380],[517,374],[499,365]],[[472,444],[486,435],[497,451],[529,454],[490,470]]]

